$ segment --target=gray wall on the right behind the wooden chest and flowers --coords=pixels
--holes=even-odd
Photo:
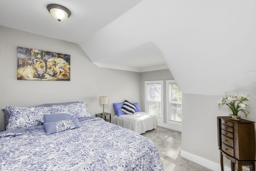
[[[233,93],[240,95],[240,93]],[[228,116],[231,113],[228,106],[217,106],[221,97],[182,93],[182,150],[218,164],[220,152],[218,150],[217,116]],[[250,94],[249,97],[250,102],[246,109],[250,111],[250,114],[247,119],[256,121],[255,95]],[[244,113],[238,114],[246,119]],[[224,166],[230,168],[230,161],[226,157],[223,158]],[[220,170],[220,167],[218,169]]]

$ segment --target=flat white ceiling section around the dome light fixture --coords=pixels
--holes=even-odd
[[[80,44],[141,0],[0,0],[0,25]],[[58,22],[48,4],[59,4],[71,16]]]

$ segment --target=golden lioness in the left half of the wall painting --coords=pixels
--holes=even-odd
[[[35,59],[33,64],[24,65],[17,70],[18,80],[42,80],[42,74],[46,72],[44,61]]]

